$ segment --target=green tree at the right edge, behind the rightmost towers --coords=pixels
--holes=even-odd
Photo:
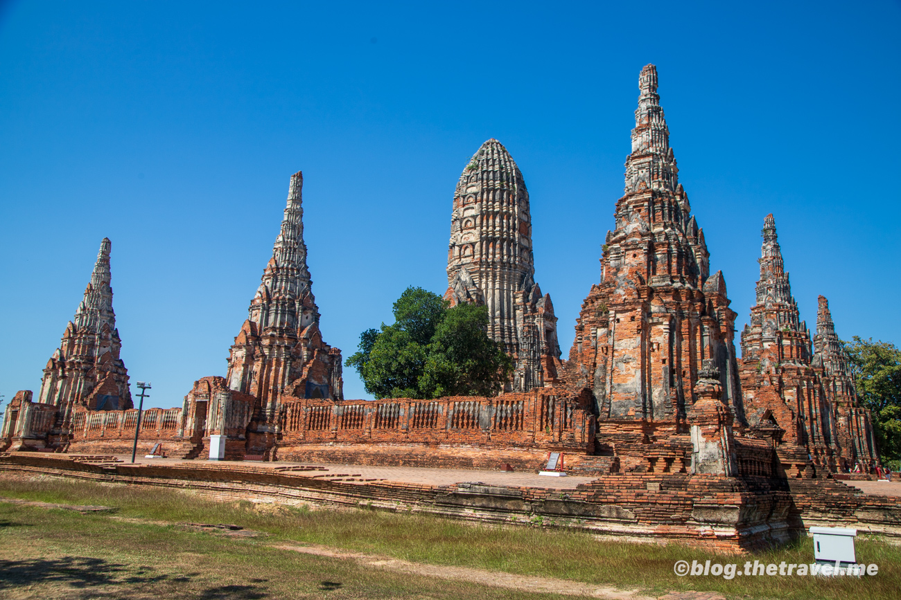
[[[901,459],[901,350],[888,342],[853,337],[843,343],[851,357],[857,395],[873,414],[883,461]]]

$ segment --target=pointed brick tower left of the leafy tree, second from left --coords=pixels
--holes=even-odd
[[[342,399],[341,350],[323,342],[306,266],[303,185],[301,173],[291,176],[272,258],[228,359],[229,388],[255,396],[264,422],[278,414],[282,394]]]

